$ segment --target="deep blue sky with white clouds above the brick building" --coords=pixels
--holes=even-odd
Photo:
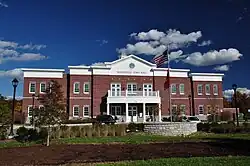
[[[151,60],[168,42],[172,68],[222,72],[224,90],[236,83],[249,93],[249,29],[248,0],[0,0],[0,94],[12,95],[19,68],[66,69],[121,52]]]

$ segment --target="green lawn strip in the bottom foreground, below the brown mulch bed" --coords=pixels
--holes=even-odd
[[[97,164],[97,166],[248,166],[250,157],[192,157],[162,158],[155,160],[138,160]]]

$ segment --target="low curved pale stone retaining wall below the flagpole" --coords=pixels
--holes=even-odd
[[[197,123],[192,122],[162,122],[145,123],[146,133],[164,136],[181,136],[197,132]]]

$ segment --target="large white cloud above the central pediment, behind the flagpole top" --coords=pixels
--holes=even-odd
[[[130,34],[130,37],[137,42],[135,44],[127,44],[125,48],[117,49],[117,51],[123,54],[157,55],[162,54],[167,46],[169,49],[178,49],[197,42],[201,36],[200,31],[182,34],[175,29],[170,29],[166,33],[152,29],[148,32]]]

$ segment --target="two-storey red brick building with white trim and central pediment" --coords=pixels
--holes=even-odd
[[[70,119],[106,113],[118,121],[145,122],[158,110],[156,118],[161,121],[170,114],[170,89],[173,112],[206,118],[211,111],[223,109],[224,74],[170,69],[171,86],[165,89],[168,69],[157,68],[134,55],[68,69],[68,73],[64,69],[23,69],[23,111],[27,121],[32,115],[32,94],[44,93],[52,79],[62,84]],[[35,106],[41,106],[39,101],[35,100]]]

